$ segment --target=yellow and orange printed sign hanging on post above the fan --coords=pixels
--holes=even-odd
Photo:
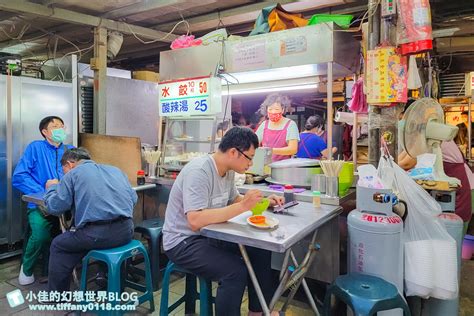
[[[407,58],[395,47],[367,52],[367,103],[390,105],[407,102]]]

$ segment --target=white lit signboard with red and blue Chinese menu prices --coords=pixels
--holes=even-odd
[[[214,115],[222,109],[221,81],[197,77],[160,82],[160,116]]]

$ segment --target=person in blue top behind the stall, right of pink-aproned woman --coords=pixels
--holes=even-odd
[[[324,121],[319,115],[308,117],[304,126],[305,131],[300,134],[300,142],[298,144],[298,158],[321,159],[328,157],[328,149],[326,142],[321,137],[323,134]],[[332,147],[332,152],[337,151],[336,147]]]

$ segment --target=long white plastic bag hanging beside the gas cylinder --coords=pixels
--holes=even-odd
[[[392,157],[381,158],[379,177],[393,169],[392,190],[408,206],[405,220],[405,293],[407,296],[454,299],[458,296],[456,241],[438,219],[441,206],[400,168]]]

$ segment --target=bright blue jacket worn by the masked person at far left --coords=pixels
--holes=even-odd
[[[65,147],[74,146],[61,144],[56,148],[45,139],[31,142],[13,172],[13,187],[24,194],[41,193],[45,191],[46,181],[61,179],[64,175],[61,158]],[[28,208],[34,207],[36,205],[28,203]]]

